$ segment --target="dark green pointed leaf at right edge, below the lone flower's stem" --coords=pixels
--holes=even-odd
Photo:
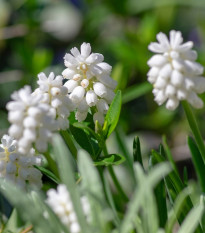
[[[191,137],[188,137],[188,145],[192,155],[192,161],[194,163],[194,168],[197,174],[197,178],[199,180],[202,192],[205,192],[205,179],[204,179],[204,171],[205,165],[204,161],[201,157],[200,151],[195,144],[194,140]]]

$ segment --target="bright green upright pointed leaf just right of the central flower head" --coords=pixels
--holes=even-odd
[[[117,125],[117,122],[120,117],[121,104],[122,104],[121,91],[118,90],[105,116],[103,133],[106,138],[110,136],[110,134]]]

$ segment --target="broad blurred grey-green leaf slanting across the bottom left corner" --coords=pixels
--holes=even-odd
[[[16,207],[22,219],[33,224],[36,233],[69,232],[45,204],[40,193],[26,193],[13,183],[3,180],[0,180],[0,191]]]

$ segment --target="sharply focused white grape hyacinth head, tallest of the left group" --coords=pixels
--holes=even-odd
[[[103,62],[99,53],[91,53],[89,43],[83,43],[80,51],[77,48],[67,53],[64,63],[67,67],[62,75],[69,79],[64,85],[68,88],[70,98],[76,104],[75,117],[83,121],[90,107],[94,107],[94,121],[102,125],[104,115],[112,102],[117,82],[110,77],[112,67]]]

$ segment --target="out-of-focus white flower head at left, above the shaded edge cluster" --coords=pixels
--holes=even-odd
[[[39,152],[47,150],[52,131],[56,129],[53,112],[48,104],[41,103],[43,96],[25,86],[11,95],[6,107],[11,123],[9,135],[18,140],[20,153],[27,154],[35,144]]]

